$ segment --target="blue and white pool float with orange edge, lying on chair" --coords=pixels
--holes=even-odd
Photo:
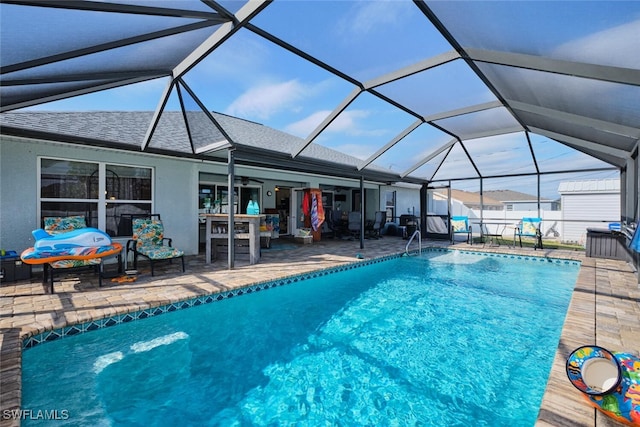
[[[43,229],[33,231],[36,239],[32,248],[25,249],[20,258],[26,264],[46,264],[60,260],[90,260],[117,255],[122,245],[97,228],[81,228],[68,233],[49,234]]]

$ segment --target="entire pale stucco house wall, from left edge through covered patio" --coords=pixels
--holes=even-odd
[[[37,195],[39,157],[151,167],[154,177],[153,212],[161,214],[167,236],[173,239],[175,247],[183,249],[187,255],[199,251],[197,218],[200,177],[206,174],[209,179],[221,184],[227,182],[228,168],[224,163],[2,136],[0,247],[3,249],[21,252],[33,246],[31,232],[40,227]],[[263,181],[259,184],[263,210],[275,207],[273,192],[276,185],[282,183],[314,188],[340,186],[349,192],[360,187],[356,180],[236,166],[236,176],[243,175],[258,176]],[[380,187],[370,182],[366,182],[364,187],[367,217],[373,218],[373,212],[380,204]],[[266,195],[268,190],[272,191],[271,197]],[[347,199],[343,209],[351,209],[350,197]],[[127,238],[114,240],[125,244]]]

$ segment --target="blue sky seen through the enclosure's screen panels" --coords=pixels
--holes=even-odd
[[[434,3],[434,11],[447,17],[447,3]],[[576,61],[601,61],[604,57],[619,66],[637,65],[640,54],[634,45],[637,38],[632,36],[637,36],[640,29],[640,13],[633,2],[612,3],[606,19],[601,13],[601,2],[585,3],[588,5],[583,9],[585,16],[580,17],[571,15],[570,3],[471,2],[467,5],[469,16],[454,18],[462,21],[461,28],[465,28],[465,19],[490,16],[491,25],[508,25],[514,29],[513,37],[493,40],[491,25],[488,25],[488,36],[484,41],[461,31],[461,42],[480,44],[473,47],[529,49],[527,53],[544,53]],[[232,9],[237,6],[235,3]],[[514,12],[516,7],[518,13]],[[553,13],[547,14],[549,11]],[[571,22],[580,18],[579,23],[566,25],[569,18]],[[408,1],[276,1],[252,23],[363,83],[451,50],[424,15]],[[536,26],[544,27],[544,31]],[[528,27],[535,31],[527,32]],[[536,38],[540,34],[543,36]],[[481,43],[487,43],[487,46]],[[619,46],[621,52],[629,49],[627,54],[607,52],[612,43]],[[589,48],[585,49],[585,46]],[[354,89],[351,83],[248,30],[240,30],[189,71],[184,80],[210,110],[263,123],[301,138],[307,137]],[[158,79],[33,109],[153,110],[166,84],[166,79]],[[495,100],[491,91],[462,61],[418,73],[379,90],[424,116]],[[581,100],[588,102],[589,95],[583,94]],[[170,103],[167,108],[177,109],[178,106]],[[486,121],[483,117],[478,114],[479,123]],[[415,120],[406,112],[365,93],[314,142],[365,159]],[[377,160],[376,165],[402,172],[450,139],[449,135],[422,125]],[[534,148],[540,150],[536,154],[543,170],[565,169],[568,164],[572,168],[606,166],[548,138],[533,136],[533,140]],[[500,173],[505,165],[509,165],[510,171],[506,173],[533,171],[522,133],[493,140],[471,140],[466,146],[483,173]],[[461,173],[472,176],[473,168],[463,154],[459,148],[452,152],[446,161],[450,172],[441,172],[439,176],[455,177]],[[430,164],[416,173],[432,173],[430,168],[435,170]],[[600,176],[614,177],[617,173],[586,174],[589,178]],[[513,184],[517,185],[517,181]],[[530,187],[529,180],[525,181],[527,183],[519,186],[519,190]],[[557,188],[557,182],[545,184],[543,193],[552,197],[554,187]],[[535,191],[535,187],[532,190]]]

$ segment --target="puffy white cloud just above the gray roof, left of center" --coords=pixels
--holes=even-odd
[[[308,91],[298,80],[255,86],[233,101],[225,113],[267,120],[283,110],[298,108]]]

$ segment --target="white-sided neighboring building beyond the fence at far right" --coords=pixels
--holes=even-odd
[[[620,180],[565,181],[558,186],[562,201],[562,240],[586,242],[587,228],[608,228],[620,221]]]

